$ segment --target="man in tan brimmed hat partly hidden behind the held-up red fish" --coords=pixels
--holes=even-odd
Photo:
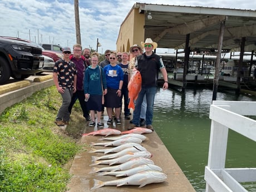
[[[134,65],[136,61],[136,57],[141,55],[143,53],[142,48],[135,44],[130,47],[130,53],[132,53],[132,58],[130,60],[129,68],[130,68],[130,74],[134,71]],[[135,102],[136,105],[136,102]],[[144,96],[143,102],[141,104],[141,112],[140,112],[140,126],[145,127],[146,126],[146,109],[147,109],[147,102],[146,102],[146,96]],[[130,121],[132,124],[132,120]]]

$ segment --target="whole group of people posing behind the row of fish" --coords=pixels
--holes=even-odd
[[[141,46],[145,50],[144,53]],[[153,130],[152,117],[158,72],[160,70],[163,73],[164,90],[168,88],[168,75],[161,57],[154,53],[157,43],[147,38],[145,42],[141,42],[141,46],[130,47],[130,54],[132,54],[130,61],[130,55],[127,52],[115,53],[106,50],[105,60],[100,63],[98,53],[91,55],[90,49],[82,50],[81,45],[73,46],[73,54],[70,48],[63,48],[63,58],[58,60],[53,68],[53,81],[62,96],[56,125],[69,124],[72,106],[77,99],[80,102],[83,117],[86,121],[91,121],[89,124],[91,127],[96,126],[95,112],[97,127],[104,127],[100,119],[105,108],[109,117],[107,124],[116,121],[116,124],[120,125],[123,98],[125,119],[130,120],[127,86],[132,73],[139,70],[142,86],[128,129],[146,127]]]

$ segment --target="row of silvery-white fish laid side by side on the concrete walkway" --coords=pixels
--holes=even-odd
[[[145,128],[142,128],[145,129]],[[97,175],[112,175],[125,178],[110,181],[100,181],[93,179],[94,185],[91,188],[97,189],[106,185],[139,185],[139,188],[150,183],[164,182],[167,176],[163,170],[150,160],[152,154],[141,146],[142,141],[147,137],[141,134],[130,133],[117,137],[104,137],[99,140],[109,140],[109,142],[92,142],[91,146],[112,146],[107,149],[91,149],[88,152],[101,152],[102,156],[92,156],[92,164],[109,165],[103,168],[93,167],[92,173]]]

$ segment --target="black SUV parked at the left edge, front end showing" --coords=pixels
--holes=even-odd
[[[43,67],[42,49],[27,40],[0,36],[0,84],[10,77],[22,80]]]

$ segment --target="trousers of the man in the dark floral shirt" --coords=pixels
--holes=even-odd
[[[70,88],[65,88],[65,91],[61,93],[62,105],[58,110],[56,120],[63,120],[63,121],[70,120],[70,113],[68,112],[68,106],[70,106],[72,95],[73,95],[73,90]]]

